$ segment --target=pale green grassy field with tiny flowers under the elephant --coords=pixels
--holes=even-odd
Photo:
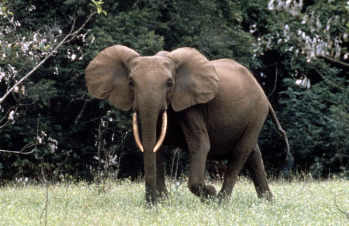
[[[220,188],[220,184],[215,184]],[[144,183],[111,183],[98,193],[95,184],[49,187],[47,225],[349,225],[349,181],[270,182],[275,201],[259,200],[253,183],[240,178],[229,202],[201,203],[186,185],[156,208],[146,208]],[[336,197],[336,198],[335,198]],[[336,204],[335,204],[336,200]],[[0,188],[0,225],[44,225],[45,186]]]

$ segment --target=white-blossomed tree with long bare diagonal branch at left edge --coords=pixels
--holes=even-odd
[[[22,1],[0,1],[0,151],[6,153],[3,155],[5,159],[17,159],[12,163],[14,166],[22,167],[30,162],[27,157],[14,154],[33,154],[35,158],[40,158],[46,152],[57,157],[58,140],[47,135],[44,129],[49,126],[48,123],[42,121],[40,112],[34,113],[34,120],[33,112],[29,110],[36,103],[44,109],[44,106],[50,105],[50,98],[58,94],[52,87],[55,81],[40,75],[38,69],[45,68],[58,74],[58,67],[49,66],[49,59],[59,55],[63,46],[78,39],[84,40],[86,33],[81,31],[92,16],[105,13],[100,9],[101,1],[92,3],[96,10],[86,8],[86,13],[81,11],[75,17],[61,15],[61,21],[57,22],[41,11],[47,4],[35,6]],[[66,3],[65,9],[69,11],[72,5]],[[41,24],[39,21],[42,19],[48,22]],[[68,54],[68,58],[74,61],[76,55]],[[0,163],[0,174],[2,167]]]

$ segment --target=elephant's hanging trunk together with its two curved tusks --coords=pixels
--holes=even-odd
[[[161,134],[156,142],[156,125],[158,113],[156,111],[141,111],[141,131],[142,142],[138,133],[137,113],[133,113],[133,133],[139,149],[144,152],[144,180],[146,183],[146,200],[148,203],[154,203],[156,197],[156,153],[155,151],[161,146],[167,127],[167,114],[163,112],[163,122]]]

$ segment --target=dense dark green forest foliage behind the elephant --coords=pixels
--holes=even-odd
[[[55,39],[59,42],[70,32],[73,23],[75,28],[84,24],[95,10],[90,3],[90,0],[0,0],[1,97],[43,59],[56,45]],[[88,62],[114,44],[129,46],[141,55],[191,46],[211,60],[235,59],[254,73],[270,96],[288,133],[295,170],[310,170],[314,176],[347,174],[349,93],[343,89],[349,89],[349,67],[321,55],[311,55],[311,51],[305,51],[305,44],[297,40],[303,31],[309,34],[304,37],[311,40],[313,36],[328,39],[334,43],[326,49],[328,57],[348,62],[345,57],[348,41],[344,36],[349,29],[346,2],[304,1],[296,16],[286,10],[270,11],[268,3],[267,0],[105,1],[100,7],[106,15],[94,14],[79,36],[58,48],[0,102],[0,149],[20,151],[26,147],[22,152],[32,152],[27,155],[0,152],[0,178],[39,178],[42,166],[49,176],[59,171],[88,180],[96,175],[134,177],[142,172],[142,155],[130,132],[130,112],[121,112],[107,101],[92,98],[84,82]],[[313,17],[313,22],[309,19],[303,23],[305,15]],[[314,25],[317,17],[321,29]],[[332,26],[323,31],[331,17]],[[9,22],[11,18],[20,24]],[[32,41],[27,50],[21,47],[25,40]],[[333,56],[338,46],[339,58],[338,54]],[[310,89],[295,84],[302,75],[310,80]],[[259,143],[268,171],[278,174],[285,158],[285,145],[271,120],[267,120]],[[172,154],[166,153],[168,172]],[[180,156],[183,157],[180,172],[185,172],[185,154]]]

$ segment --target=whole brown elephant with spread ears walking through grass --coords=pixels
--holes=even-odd
[[[258,197],[273,199],[257,140],[270,114],[285,131],[250,71],[230,59],[209,61],[195,48],[181,47],[154,56],[122,45],[101,51],[85,71],[88,92],[133,111],[133,134],[143,152],[146,201],[167,193],[161,145],[190,156],[188,188],[202,199],[229,198],[239,172],[250,172]],[[138,117],[140,118],[141,137]],[[228,160],[220,192],[205,184],[206,159]]]

